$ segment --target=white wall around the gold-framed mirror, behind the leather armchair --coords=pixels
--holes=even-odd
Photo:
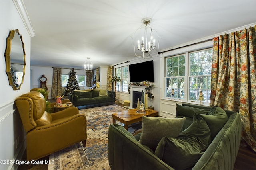
[[[15,161],[16,158],[20,159],[20,153],[25,149],[25,140],[22,123],[14,105],[14,100],[16,97],[30,90],[31,37],[12,0],[0,1],[0,14],[0,160]],[[4,57],[6,38],[12,29],[19,29],[23,37],[26,52],[24,83],[21,85],[21,89],[16,91],[9,86],[8,77],[5,72],[6,65]],[[2,170],[12,168],[14,168],[12,164],[0,164],[0,169]]]

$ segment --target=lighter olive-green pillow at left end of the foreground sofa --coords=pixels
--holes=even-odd
[[[185,120],[185,117],[165,118],[142,116],[142,133],[139,142],[154,151],[162,137],[177,137]]]

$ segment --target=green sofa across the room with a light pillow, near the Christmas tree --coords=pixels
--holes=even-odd
[[[115,102],[115,92],[108,90],[77,90],[73,94],[68,93],[68,99],[74,106],[106,104]]]

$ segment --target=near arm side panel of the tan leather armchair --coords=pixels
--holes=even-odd
[[[37,160],[84,141],[86,137],[86,117],[82,114],[36,127],[27,134],[27,159]]]

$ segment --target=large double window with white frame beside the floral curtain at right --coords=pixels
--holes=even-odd
[[[166,57],[165,68],[165,98],[196,102],[202,91],[210,102],[212,48]]]

